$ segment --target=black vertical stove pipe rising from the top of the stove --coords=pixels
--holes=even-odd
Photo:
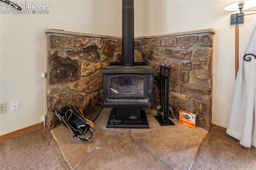
[[[122,0],[122,66],[134,66],[134,1]]]

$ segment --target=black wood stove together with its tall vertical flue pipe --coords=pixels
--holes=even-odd
[[[149,128],[141,108],[153,107],[154,73],[146,63],[134,63],[134,2],[122,1],[122,63],[110,63],[103,73],[104,107],[113,107],[107,128]]]

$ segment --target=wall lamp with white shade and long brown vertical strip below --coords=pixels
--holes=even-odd
[[[251,14],[244,14],[245,11],[256,11],[256,10],[247,10],[256,7],[256,0],[244,0],[239,2],[234,2],[227,6],[224,6],[223,10],[225,11],[238,11],[239,13],[231,14],[230,17],[230,25],[236,24],[236,54],[235,54],[235,67],[236,67],[236,75],[238,72],[238,47],[239,47],[239,26],[238,24],[244,23],[244,16],[251,15]],[[255,13],[252,13],[255,14]]]

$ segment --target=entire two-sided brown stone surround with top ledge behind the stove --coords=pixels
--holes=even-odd
[[[101,68],[122,62],[122,38],[45,31],[47,35],[47,126],[60,123],[53,108],[74,105],[82,111],[89,99],[102,97]],[[170,106],[197,114],[197,126],[210,130],[212,114],[213,29],[146,36],[134,40],[134,61],[146,62],[159,71],[171,65]],[[154,75],[154,107],[158,105],[159,75]]]

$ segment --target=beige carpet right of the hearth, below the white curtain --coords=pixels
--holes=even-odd
[[[246,148],[225,131],[212,127],[191,170],[256,170],[256,148]]]

